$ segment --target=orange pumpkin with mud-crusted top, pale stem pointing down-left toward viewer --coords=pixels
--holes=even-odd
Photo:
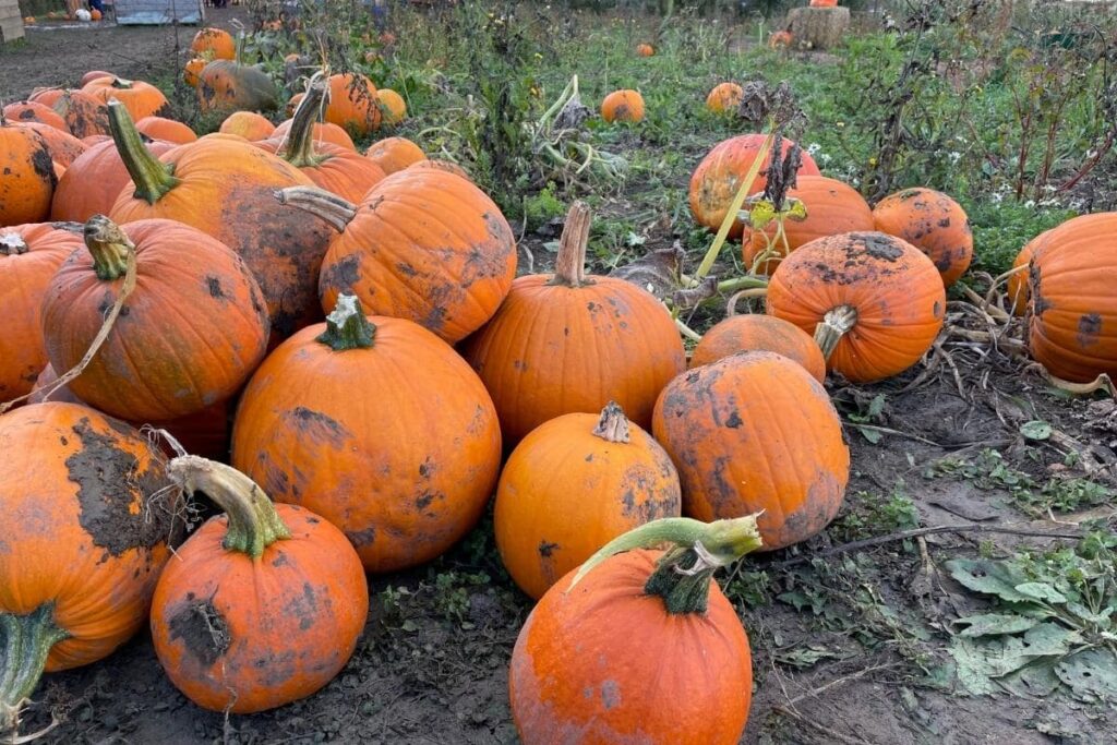
[[[855,383],[897,375],[930,348],[946,292],[925,254],[882,232],[813,240],[784,259],[767,312],[813,334],[830,370]]]

